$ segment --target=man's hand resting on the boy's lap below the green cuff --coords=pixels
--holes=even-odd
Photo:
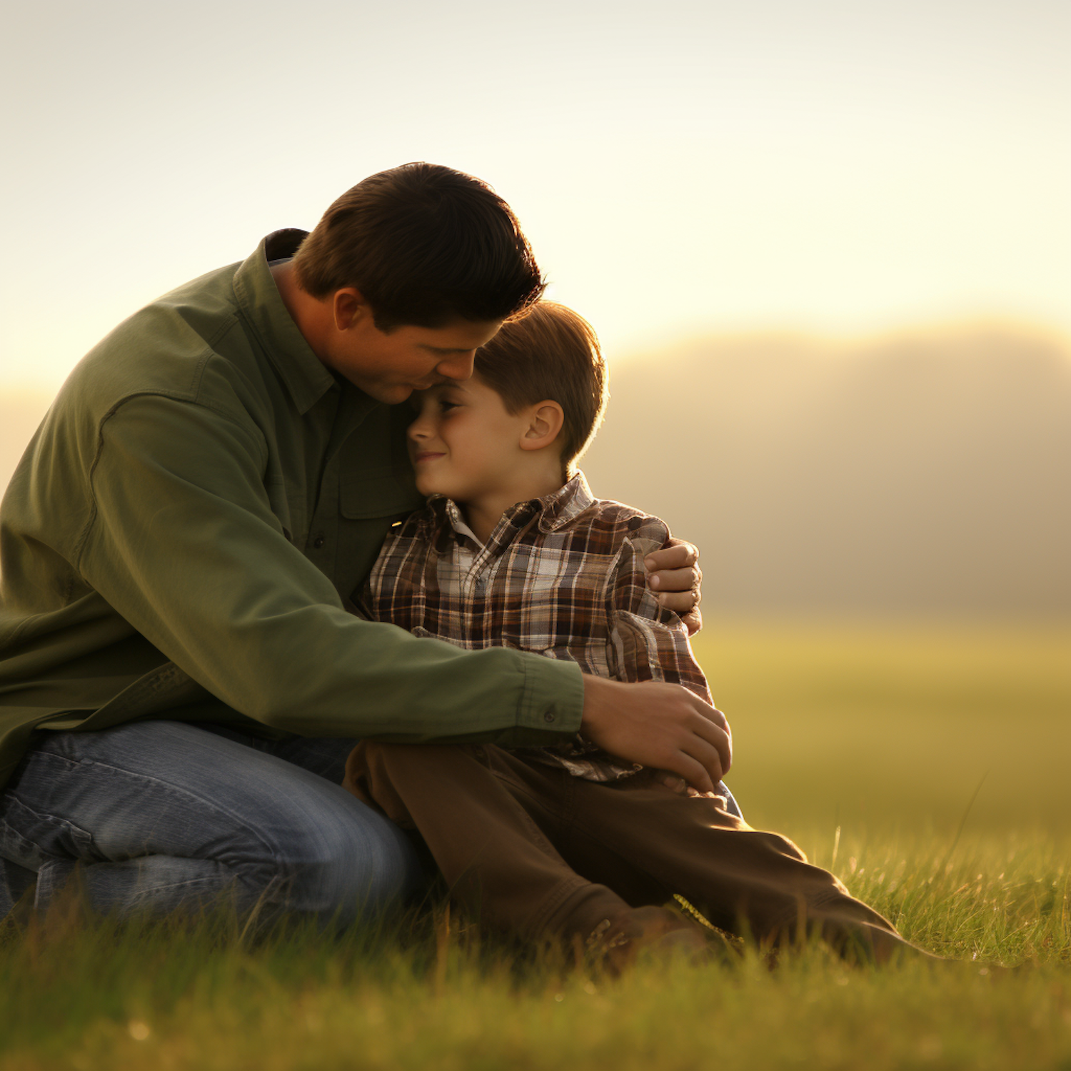
[[[680,684],[585,676],[580,733],[627,763],[676,773],[703,793],[733,763],[725,715]]]

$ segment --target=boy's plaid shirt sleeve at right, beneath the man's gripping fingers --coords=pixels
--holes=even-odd
[[[607,589],[610,670],[618,680],[663,680],[683,684],[711,703],[707,679],[681,619],[659,604],[647,586],[644,558],[669,541],[654,517],[643,518],[621,547]]]

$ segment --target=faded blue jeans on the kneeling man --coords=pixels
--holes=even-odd
[[[0,791],[0,918],[36,883],[46,907],[80,869],[93,907],[239,910],[347,923],[427,874],[396,826],[342,787],[355,741],[267,741],[136,722],[42,733]]]

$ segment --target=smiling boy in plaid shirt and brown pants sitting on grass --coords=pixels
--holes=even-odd
[[[645,584],[666,526],[593,499],[573,470],[605,397],[594,333],[549,303],[482,347],[472,379],[422,392],[408,438],[431,497],[388,537],[362,612],[464,648],[680,683],[709,702],[684,629]],[[579,940],[612,969],[644,947],[705,946],[694,922],[657,906],[675,893],[760,940],[806,924],[878,961],[909,948],[791,842],[744,824],[723,786],[685,789],[580,738],[513,752],[364,741],[345,784],[416,829],[486,923]]]

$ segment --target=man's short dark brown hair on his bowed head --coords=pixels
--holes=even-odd
[[[380,331],[501,320],[545,284],[510,206],[486,182],[437,164],[403,164],[344,193],[293,257],[314,298],[357,287]]]

